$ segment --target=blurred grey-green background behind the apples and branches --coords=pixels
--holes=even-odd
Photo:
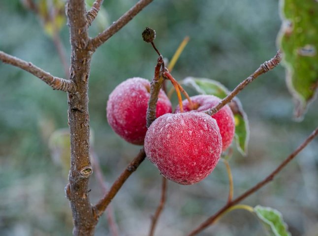
[[[117,20],[135,2],[105,0],[102,16],[90,28],[90,36]],[[143,29],[146,26],[156,29],[156,45],[167,59],[185,36],[190,37],[172,72],[177,80],[187,76],[210,78],[232,90],[276,54],[281,24],[278,3],[278,0],[155,0],[97,50],[92,60],[89,110],[94,150],[108,184],[141,148],[126,143],[111,130],[105,107],[109,93],[122,81],[135,76],[149,80],[153,77],[157,55],[142,41]],[[60,25],[68,62],[68,28],[63,19]],[[0,1],[0,29],[1,51],[65,77],[49,26],[22,1]],[[38,78],[11,65],[0,63],[0,76],[1,235],[71,235],[71,212],[64,196],[65,165],[61,165],[62,154],[55,149],[54,142],[58,141],[51,138],[49,144],[55,130],[68,127],[66,94],[52,90]],[[318,120],[317,101],[311,104],[302,122],[293,120],[293,101],[282,66],[259,77],[238,97],[248,115],[251,136],[246,157],[232,145],[234,196],[269,174],[316,128]],[[176,104],[175,94],[172,102]],[[316,139],[272,183],[244,203],[281,211],[293,236],[318,236],[317,153]],[[102,190],[94,176],[90,184],[95,203]],[[112,202],[120,235],[148,234],[151,215],[159,204],[160,186],[158,170],[145,160]],[[168,181],[167,202],[156,235],[189,233],[224,205],[227,194],[228,178],[222,162],[198,184],[183,186]],[[104,216],[96,235],[111,235]],[[265,233],[254,215],[236,210],[200,234],[210,235]]]

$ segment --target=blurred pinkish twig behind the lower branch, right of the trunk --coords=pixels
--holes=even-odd
[[[106,183],[104,181],[103,174],[101,172],[98,156],[95,153],[93,148],[91,148],[91,156],[93,159],[92,163],[93,163],[93,168],[94,168],[96,180],[100,185],[102,193],[106,194],[107,193],[107,186],[106,186]],[[111,235],[112,236],[119,236],[118,226],[117,226],[116,221],[115,221],[114,210],[113,210],[113,207],[111,204],[106,209],[106,219],[107,219],[108,224],[109,224]]]

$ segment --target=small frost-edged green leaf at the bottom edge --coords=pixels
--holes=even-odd
[[[270,236],[291,236],[287,225],[283,220],[282,213],[271,207],[254,207],[258,219],[261,221]]]

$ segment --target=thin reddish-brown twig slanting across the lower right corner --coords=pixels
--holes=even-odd
[[[263,187],[265,184],[269,183],[274,179],[274,177],[284,168],[286,165],[301,151],[303,150],[313,139],[318,135],[318,127],[308,136],[308,138],[296,149],[294,150],[271,174],[265,177],[262,181],[255,184],[252,188],[247,190],[245,193],[234,199],[233,201],[227,203],[224,207],[222,207],[217,213],[213,216],[209,217],[206,221],[204,221],[201,225],[195,228],[188,236],[194,236],[200,233],[202,230],[207,228],[208,226],[212,225],[216,219],[219,218],[228,208],[238,204],[258,189]]]

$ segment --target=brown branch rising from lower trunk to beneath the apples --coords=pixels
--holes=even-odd
[[[95,205],[94,208],[96,218],[98,218],[105,211],[106,207],[110,204],[110,202],[115,197],[119,189],[123,186],[127,178],[138,168],[145,157],[146,153],[144,148],[142,148],[138,155],[129,163],[124,172],[116,179],[105,196]]]

